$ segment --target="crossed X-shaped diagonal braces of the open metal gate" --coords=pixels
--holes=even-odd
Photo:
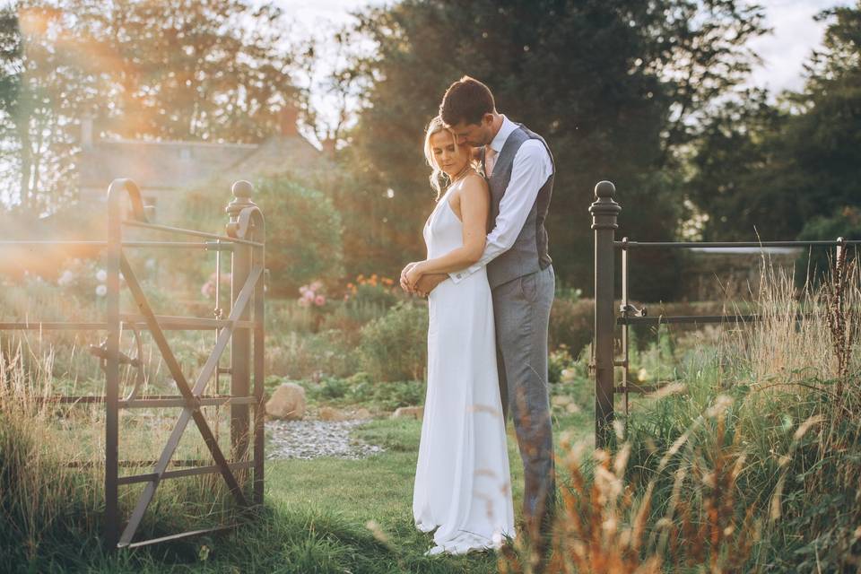
[[[137,501],[137,505],[132,511],[131,517],[129,517],[128,524],[126,525],[123,534],[120,536],[117,546],[122,548],[132,544],[132,539],[135,536],[137,527],[140,526],[141,520],[143,519],[143,513],[152,502],[155,491],[158,488],[159,483],[161,483],[161,478],[164,476],[168,466],[170,465],[170,458],[173,457],[173,454],[178,447],[179,439],[185,432],[190,419],[194,419],[197,429],[203,436],[204,443],[212,453],[215,465],[218,467],[219,472],[221,472],[224,482],[227,483],[233,497],[239,502],[239,505],[248,506],[248,500],[246,500],[242,489],[239,487],[236,477],[230,471],[230,465],[224,457],[222,449],[219,447],[218,441],[213,435],[213,431],[209,428],[209,424],[206,422],[204,414],[200,411],[199,397],[203,394],[207,381],[212,378],[213,372],[218,366],[218,361],[222,356],[222,352],[224,352],[224,349],[230,342],[230,337],[233,335],[233,329],[236,326],[239,317],[241,317],[242,312],[248,306],[248,301],[251,299],[251,296],[255,291],[257,281],[263,274],[263,267],[261,265],[255,265],[251,269],[250,274],[248,274],[248,281],[246,281],[242,286],[241,291],[239,291],[239,296],[233,305],[233,309],[230,310],[230,317],[228,317],[229,325],[222,327],[219,331],[213,352],[210,353],[204,363],[203,369],[198,374],[195,386],[191,388],[188,387],[185,375],[179,367],[176,357],[170,350],[170,344],[168,344],[168,341],[164,336],[164,332],[161,330],[161,326],[159,326],[159,321],[152,312],[149,301],[146,299],[143,289],[141,289],[141,285],[138,283],[137,277],[135,276],[135,273],[132,270],[131,265],[129,265],[125,255],[122,255],[120,258],[120,268],[125,276],[126,284],[128,285],[129,290],[132,291],[135,302],[146,321],[146,325],[152,333],[152,338],[158,345],[162,358],[165,363],[167,363],[170,375],[176,381],[180,394],[186,399],[186,406],[183,407],[177,424],[170,433],[170,439],[168,439],[167,444],[161,452],[159,461],[153,468],[152,479],[146,483],[146,486]]]

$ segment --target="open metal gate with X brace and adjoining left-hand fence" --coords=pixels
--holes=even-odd
[[[115,179],[108,190],[107,241],[0,241],[2,248],[76,249],[87,248],[90,257],[102,257],[107,267],[107,306],[100,322],[64,323],[0,322],[0,330],[73,330],[104,331],[107,338],[91,352],[101,362],[105,372],[104,396],[50,396],[46,400],[65,404],[105,405],[104,487],[105,515],[103,539],[108,548],[125,548],[154,544],[181,537],[201,535],[236,526],[222,525],[194,530],[161,538],[137,541],[135,533],[156,489],[163,480],[200,474],[221,474],[232,497],[242,509],[262,503],[264,487],[264,269],[265,222],[263,213],[251,201],[252,187],[247,181],[237,181],[232,187],[233,198],[225,211],[229,221],[226,234],[187,230],[148,222],[140,190],[131,179]],[[130,217],[126,208],[131,204]],[[124,241],[123,230],[138,228],[191,237],[185,241]],[[204,250],[216,252],[215,311],[213,318],[156,315],[143,292],[135,270],[126,258],[133,248],[163,248]],[[222,254],[230,255],[230,307],[228,317],[221,309],[220,279]],[[120,278],[125,281],[137,306],[138,313],[120,310]],[[138,356],[129,357],[119,348],[123,330],[135,333]],[[138,396],[143,381],[143,354],[139,330],[148,330],[161,352],[178,395]],[[215,344],[194,381],[189,381],[170,348],[166,330],[214,330]],[[222,368],[220,360],[230,344],[230,367]],[[131,392],[120,396],[120,366],[138,370]],[[230,375],[230,393],[219,394],[218,378]],[[215,380],[215,394],[207,387]],[[252,387],[253,379],[253,387]],[[230,453],[225,454],[207,422],[201,408],[226,405],[230,407]],[[118,421],[121,409],[177,407],[181,409],[170,438],[156,461],[126,461],[118,457]],[[190,422],[194,422],[204,439],[212,461],[174,460],[179,440]],[[119,475],[119,468],[152,465],[146,474]],[[170,470],[169,470],[170,468]],[[135,508],[127,519],[120,516],[119,488],[144,483]],[[248,485],[250,483],[250,489]],[[250,493],[248,492],[250,490]],[[250,494],[250,496],[249,496]]]

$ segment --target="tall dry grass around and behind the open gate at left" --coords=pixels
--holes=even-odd
[[[0,555],[11,571],[63,570],[87,553],[102,555],[104,405],[46,401],[57,393],[52,363],[50,352],[34,356],[22,340],[0,352]],[[230,452],[229,410],[205,410]],[[121,412],[120,459],[158,458],[177,416],[178,409]],[[194,425],[174,458],[211,464]],[[120,475],[151,467],[123,466]],[[122,516],[142,488],[120,486]],[[165,481],[136,539],[214,526],[234,510],[218,474]]]

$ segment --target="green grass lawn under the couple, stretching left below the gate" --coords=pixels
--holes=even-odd
[[[590,411],[554,419],[563,431],[588,439]],[[381,419],[354,431],[356,439],[386,448],[359,460],[322,457],[267,461],[266,509],[252,526],[184,546],[121,553],[91,570],[142,572],[283,572],[395,574],[495,572],[492,552],[425,557],[431,535],[413,526],[413,477],[422,423]],[[509,422],[509,457],[515,511],[523,472]],[[375,535],[368,523],[378,525]],[[381,535],[380,535],[381,533]],[[168,564],[172,563],[172,566]]]

